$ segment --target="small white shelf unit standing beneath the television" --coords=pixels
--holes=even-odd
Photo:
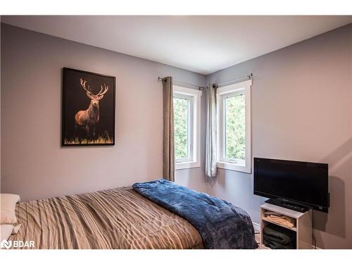
[[[265,211],[271,211],[279,213],[280,215],[287,215],[290,218],[293,218],[296,222],[294,227],[286,227],[284,225],[279,225],[275,222],[272,222],[265,218]],[[263,229],[265,225],[268,224],[278,225],[280,227],[287,228],[292,230],[296,234],[296,249],[311,249],[311,240],[312,240],[312,211],[308,210],[305,213],[300,213],[295,210],[283,208],[280,206],[275,206],[270,203],[264,203],[260,206],[260,240],[261,245],[264,245],[263,239]]]

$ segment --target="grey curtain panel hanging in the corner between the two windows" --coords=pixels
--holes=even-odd
[[[216,169],[216,87],[208,84],[206,89],[206,175],[215,177]]]

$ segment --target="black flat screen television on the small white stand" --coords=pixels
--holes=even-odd
[[[253,171],[254,194],[270,198],[269,203],[328,212],[327,164],[254,158]]]

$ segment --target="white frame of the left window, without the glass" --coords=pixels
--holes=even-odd
[[[175,161],[175,169],[201,167],[201,91],[173,85],[173,97],[190,100],[189,105],[189,158]]]

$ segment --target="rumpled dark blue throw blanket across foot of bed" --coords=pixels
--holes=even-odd
[[[137,191],[193,225],[205,249],[256,249],[249,215],[227,201],[192,191],[168,180],[135,183]]]

